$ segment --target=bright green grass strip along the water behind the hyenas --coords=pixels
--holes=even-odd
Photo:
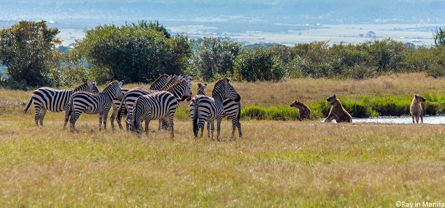
[[[349,96],[341,100],[344,109],[354,118],[368,118],[374,116],[407,116],[410,115],[412,96],[399,94],[395,96],[362,96],[354,98]],[[443,94],[423,93],[426,102],[422,103],[424,114],[445,114],[445,96]],[[329,114],[331,105],[327,101],[314,101],[306,103],[311,108],[312,119],[322,119]],[[263,107],[261,105],[247,105],[242,107],[241,117],[243,119],[257,120],[297,120],[298,110],[290,106]],[[180,107],[176,116],[180,119],[189,118],[189,109]]]

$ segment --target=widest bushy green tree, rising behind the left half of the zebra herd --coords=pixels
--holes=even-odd
[[[110,79],[147,83],[162,73],[181,73],[191,45],[186,35],[171,38],[159,23],[139,21],[87,30],[75,48],[95,67],[108,69]]]

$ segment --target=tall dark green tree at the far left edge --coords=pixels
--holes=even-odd
[[[58,85],[52,71],[57,67],[55,36],[60,31],[48,28],[46,21],[19,21],[0,30],[0,64],[5,64],[10,83],[27,86]]]

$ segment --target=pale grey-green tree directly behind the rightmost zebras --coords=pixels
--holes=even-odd
[[[235,58],[243,51],[238,42],[217,37],[203,37],[192,63],[204,80],[226,76],[234,72]]]

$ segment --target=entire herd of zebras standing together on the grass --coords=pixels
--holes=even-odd
[[[134,87],[123,89],[123,82],[114,80],[99,92],[96,82],[85,82],[73,90],[58,90],[50,87],[36,89],[26,105],[24,113],[31,103],[35,107],[35,124],[43,125],[46,111],[65,111],[64,126],[70,122],[71,131],[75,130],[76,121],[80,114],[99,114],[99,130],[107,129],[107,115],[110,116],[111,127],[114,130],[114,120],[119,128],[123,129],[121,118],[127,114],[125,127],[138,133],[142,132],[141,122],[145,122],[145,131],[148,134],[148,124],[151,120],[159,119],[159,130],[169,130],[174,137],[173,116],[181,101],[191,101],[190,116],[193,121],[193,134],[198,139],[204,132],[204,123],[207,122],[208,137],[213,140],[214,120],[217,121],[217,139],[220,139],[220,123],[223,116],[232,119],[232,139],[236,128],[242,137],[241,123],[241,97],[234,87],[230,85],[229,78],[221,78],[213,88],[211,96],[206,96],[207,84],[198,83],[197,96],[193,99],[191,93],[192,76],[168,76],[163,74],[150,85],[150,88]]]

